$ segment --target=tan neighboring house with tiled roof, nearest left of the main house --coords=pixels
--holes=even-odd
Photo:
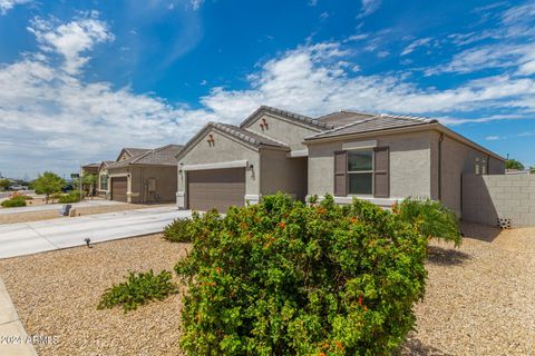
[[[179,145],[156,149],[125,148],[115,162],[103,162],[100,177],[107,178],[109,199],[144,204],[174,201],[176,155],[181,149]]]

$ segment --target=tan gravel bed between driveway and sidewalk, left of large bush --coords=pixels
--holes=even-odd
[[[128,270],[172,270],[186,248],[152,235],[0,260],[0,276],[27,333],[58,337],[39,355],[179,355],[179,294],[128,314],[96,307]]]

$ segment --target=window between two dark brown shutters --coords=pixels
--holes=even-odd
[[[373,150],[348,151],[348,178],[349,194],[372,194]]]

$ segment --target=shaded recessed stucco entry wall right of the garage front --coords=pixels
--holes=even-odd
[[[261,192],[263,196],[283,191],[304,200],[307,196],[307,157],[286,158],[281,150],[261,150]]]

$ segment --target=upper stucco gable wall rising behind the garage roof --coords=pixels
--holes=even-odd
[[[262,119],[265,118],[268,128],[262,129],[260,125]],[[292,150],[302,150],[307,147],[302,144],[303,138],[319,130],[308,127],[305,123],[299,123],[293,120],[289,120],[274,115],[264,113],[256,120],[250,122],[246,127],[247,130],[257,132],[263,136],[268,136],[276,141],[282,141],[290,146]]]

